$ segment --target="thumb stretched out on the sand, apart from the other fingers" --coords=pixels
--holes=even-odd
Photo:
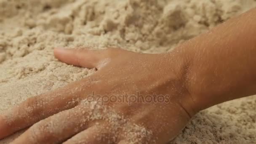
[[[54,56],[60,61],[78,67],[98,68],[106,58],[104,50],[54,48]]]

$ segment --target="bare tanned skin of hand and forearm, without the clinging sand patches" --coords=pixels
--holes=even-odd
[[[0,139],[32,125],[13,144],[165,144],[200,110],[256,94],[255,23],[256,9],[252,9],[169,53],[56,48],[54,55],[60,61],[97,71],[0,115]],[[90,104],[83,101],[93,91],[102,97],[127,93],[131,98],[138,91],[144,98],[162,94],[169,101],[101,104],[125,119],[116,119],[120,129],[114,130],[104,112],[100,113],[105,118],[80,121],[90,115]],[[67,123],[61,123],[65,119]],[[49,129],[52,123],[56,125]],[[123,127],[134,124],[150,134],[131,142]]]

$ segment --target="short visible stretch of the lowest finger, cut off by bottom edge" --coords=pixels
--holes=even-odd
[[[63,144],[112,144],[114,142],[115,139],[107,131],[107,125],[93,125],[68,139]]]

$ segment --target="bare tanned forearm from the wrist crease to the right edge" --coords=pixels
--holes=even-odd
[[[256,9],[184,43],[186,87],[195,111],[256,94]]]

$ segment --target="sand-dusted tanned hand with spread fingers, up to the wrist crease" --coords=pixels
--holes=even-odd
[[[56,48],[54,54],[97,71],[0,115],[0,139],[32,125],[13,144],[165,144],[195,114],[173,53]]]

